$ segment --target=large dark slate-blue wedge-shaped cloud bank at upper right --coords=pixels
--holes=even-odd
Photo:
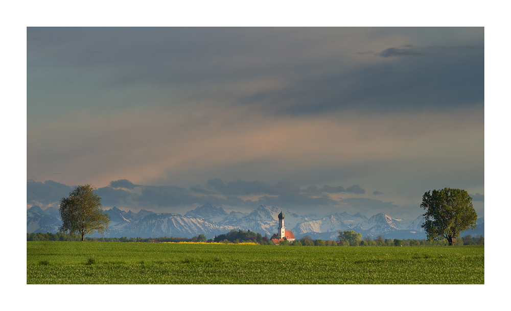
[[[462,53],[450,49],[335,74],[298,76],[281,89],[250,95],[240,103],[258,107],[263,113],[316,115],[350,110],[442,110],[482,105],[483,100],[483,49],[464,49]]]

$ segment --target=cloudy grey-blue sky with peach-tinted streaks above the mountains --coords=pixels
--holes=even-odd
[[[27,207],[484,210],[484,28],[27,29]]]

